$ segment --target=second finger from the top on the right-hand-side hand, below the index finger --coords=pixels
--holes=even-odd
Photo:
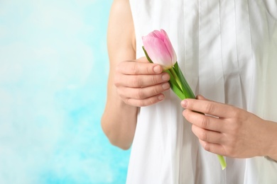
[[[224,132],[226,129],[224,126],[224,120],[217,117],[196,113],[188,109],[183,111],[183,116],[193,125],[196,125],[202,129],[212,130],[215,132]]]

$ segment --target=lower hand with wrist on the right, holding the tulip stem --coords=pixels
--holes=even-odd
[[[207,151],[234,158],[270,156],[276,159],[276,123],[202,96],[197,96],[197,100],[183,100],[181,105],[185,108],[184,117],[192,123],[192,132]]]

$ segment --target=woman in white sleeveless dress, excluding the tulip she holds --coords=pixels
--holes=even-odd
[[[132,145],[127,183],[277,183],[276,20],[275,0],[114,1],[102,128]],[[143,57],[161,28],[197,100]]]

